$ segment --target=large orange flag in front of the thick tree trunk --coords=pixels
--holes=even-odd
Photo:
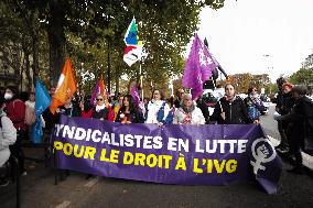
[[[76,89],[77,85],[73,74],[73,66],[68,57],[58,78],[55,94],[52,97],[50,106],[51,112],[54,114],[57,107],[63,106],[65,101],[73,96]]]

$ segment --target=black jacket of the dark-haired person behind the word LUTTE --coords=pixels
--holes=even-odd
[[[225,112],[225,120],[220,116],[222,112]],[[235,100],[231,102],[223,97],[215,105],[211,121],[217,121],[217,123],[220,124],[244,124],[252,122],[252,120],[249,119],[247,108],[242,99],[238,96],[236,96]]]

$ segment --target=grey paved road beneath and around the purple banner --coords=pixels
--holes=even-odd
[[[262,125],[272,138],[278,136],[271,114],[262,118]],[[313,207],[313,178],[307,174],[283,171],[279,193],[267,195],[255,183],[179,186],[105,177],[86,179],[80,173],[72,173],[66,180],[54,185],[53,169],[43,163],[34,165],[22,177],[22,207],[26,208]],[[283,164],[285,168],[290,165]],[[12,186],[0,187],[1,208],[14,205],[13,194]]]

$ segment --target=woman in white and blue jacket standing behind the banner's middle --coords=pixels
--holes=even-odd
[[[156,123],[161,127],[165,123],[169,112],[170,107],[164,100],[162,90],[154,89],[152,92],[152,99],[147,107],[145,123]]]

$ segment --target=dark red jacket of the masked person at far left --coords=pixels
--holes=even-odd
[[[18,131],[26,130],[28,128],[25,124],[25,103],[20,99],[14,99],[7,103],[7,116],[11,119]]]

